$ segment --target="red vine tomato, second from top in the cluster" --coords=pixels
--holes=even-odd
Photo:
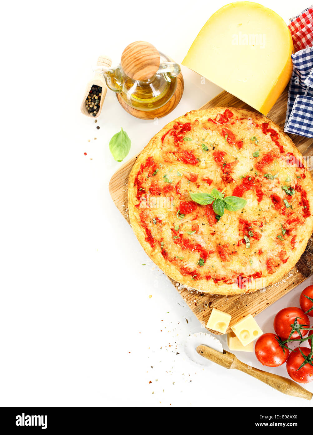
[[[274,330],[282,340],[287,340],[291,332],[291,326],[295,319],[297,319],[300,325],[310,325],[310,320],[301,308],[288,307],[280,310],[274,318]],[[308,333],[305,329],[300,329],[302,337],[305,337]],[[293,332],[290,338],[300,338],[297,331]]]

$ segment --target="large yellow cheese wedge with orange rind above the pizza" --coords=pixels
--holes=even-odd
[[[204,24],[182,64],[266,115],[288,84],[293,42],[258,3],[230,3]]]

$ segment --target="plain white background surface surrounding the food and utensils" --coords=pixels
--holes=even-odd
[[[263,3],[288,22],[308,1]],[[311,405],[241,372],[188,360],[186,338],[204,330],[109,195],[121,164],[108,143],[120,127],[132,139],[130,158],[220,89],[183,68],[181,103],[158,125],[126,114],[110,91],[97,124],[79,110],[100,54],[117,65],[128,43],[148,40],[181,62],[224,3],[3,6],[0,405]],[[298,305],[303,287],[257,316],[264,332],[273,331],[277,311]],[[237,356],[260,367],[254,354]],[[285,367],[268,370],[286,375]]]

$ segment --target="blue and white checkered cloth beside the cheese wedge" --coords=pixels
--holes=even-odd
[[[293,73],[284,131],[313,137],[313,47],[297,51],[291,58]]]

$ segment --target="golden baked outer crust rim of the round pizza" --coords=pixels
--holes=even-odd
[[[135,165],[132,168],[128,181],[129,217],[130,217],[132,229],[136,237],[138,238],[138,241],[144,248],[145,252],[152,259],[152,261],[154,261],[155,264],[157,264],[158,267],[161,268],[161,270],[168,275],[168,277],[174,279],[175,281],[178,281],[181,284],[184,284],[185,286],[194,288],[204,293],[211,293],[211,294],[246,293],[249,291],[256,291],[259,288],[263,288],[264,286],[268,286],[270,284],[279,281],[297,263],[303,251],[305,250],[307,241],[310,238],[313,231],[313,216],[310,215],[309,217],[306,218],[305,225],[300,226],[297,229],[297,244],[293,250],[290,249],[289,251],[287,251],[287,255],[289,257],[287,262],[285,264],[280,264],[280,267],[277,269],[276,272],[264,276],[262,280],[260,280],[260,284],[256,283],[256,281],[253,282],[253,279],[251,278],[252,283],[251,284],[248,283],[246,288],[238,288],[238,286],[234,285],[233,283],[227,284],[225,282],[214,282],[213,279],[194,280],[190,275],[182,274],[181,271],[178,270],[175,264],[171,263],[170,261],[167,261],[162,256],[161,248],[159,247],[159,245],[152,247],[148,243],[148,241],[146,240],[147,234],[145,228],[143,228],[142,226],[141,219],[139,216],[139,209],[138,207],[136,207],[136,205],[138,204],[138,199],[136,197],[137,189],[135,187],[135,177],[138,174],[141,165],[147,160],[148,157],[153,157],[153,156],[158,157],[162,146],[161,138],[169,130],[171,130],[175,126],[175,124],[177,123],[184,124],[188,122],[193,123],[195,120],[201,120],[204,122],[208,118],[214,119],[218,114],[223,113],[224,110],[226,109],[227,107],[217,107],[208,110],[193,110],[191,112],[188,112],[184,116],[181,116],[176,120],[168,123],[164,128],[162,128],[162,130],[159,133],[157,133],[154,137],[152,137],[152,139],[149,141],[147,146],[144,148],[144,150],[142,151]],[[277,124],[273,123],[270,119],[245,109],[234,109],[232,107],[228,109],[231,110],[231,112],[234,114],[234,117],[236,116],[237,118],[249,118],[257,124],[264,123],[264,122],[268,123],[269,128],[272,128],[279,133],[280,139],[283,142],[283,147],[285,152],[292,153],[294,156],[298,158],[302,158],[302,155],[298,151],[297,147],[295,147],[290,137],[288,137],[283,132],[283,130],[279,126],[277,126]],[[182,144],[182,146],[183,145],[184,144]],[[260,148],[262,149],[261,143],[260,143]],[[190,165],[186,165],[186,170],[192,171],[192,167],[190,167]],[[307,170],[307,168],[304,168],[303,171],[305,171],[306,177],[304,179],[301,179],[299,182],[301,182],[301,187],[303,188],[303,190],[306,191],[307,200],[309,201],[310,204],[310,210],[313,210],[312,176],[310,172]],[[231,213],[235,213],[239,216],[240,211],[231,212]]]

